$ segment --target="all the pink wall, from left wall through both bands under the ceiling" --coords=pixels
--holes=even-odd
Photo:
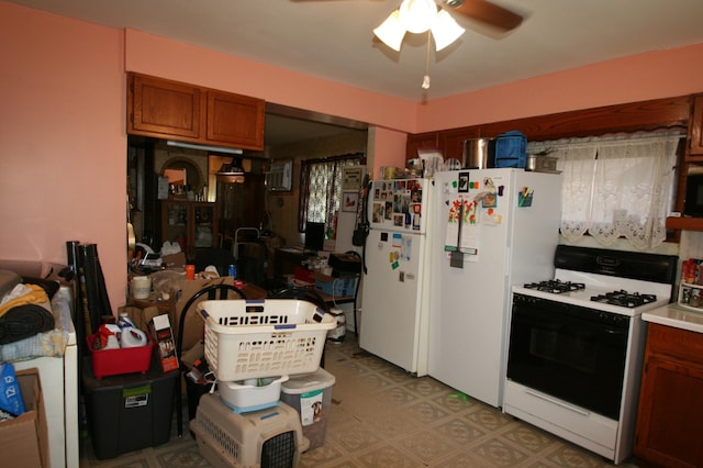
[[[65,263],[67,241],[96,243],[113,309],[126,287],[125,69],[369,122],[372,174],[404,164],[406,132],[703,91],[703,46],[419,104],[1,0],[0,44],[0,258]]]

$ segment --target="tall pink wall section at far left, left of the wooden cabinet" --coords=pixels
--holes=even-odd
[[[98,244],[124,303],[126,136],[116,30],[0,3],[0,258],[66,264]]]

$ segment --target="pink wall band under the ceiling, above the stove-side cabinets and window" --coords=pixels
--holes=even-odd
[[[419,132],[703,91],[703,44],[640,54],[422,105]]]

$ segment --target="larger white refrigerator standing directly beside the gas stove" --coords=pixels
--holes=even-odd
[[[428,374],[499,408],[511,288],[554,277],[561,176],[465,169],[435,186]]]

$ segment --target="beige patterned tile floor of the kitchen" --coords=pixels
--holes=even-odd
[[[300,467],[605,467],[612,463],[505,415],[431,377],[416,378],[360,350],[347,334],[327,344],[336,383],[325,444]],[[174,419],[175,421],[175,419]],[[209,467],[197,443],[171,424],[167,444],[98,460],[89,439],[81,468]],[[637,467],[627,460],[623,467]]]

